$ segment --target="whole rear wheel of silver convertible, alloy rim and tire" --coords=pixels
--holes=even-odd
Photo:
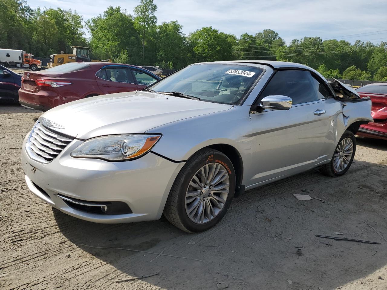
[[[344,175],[353,162],[356,151],[356,138],[351,131],[345,131],[336,146],[332,159],[321,167],[325,175],[332,177]]]

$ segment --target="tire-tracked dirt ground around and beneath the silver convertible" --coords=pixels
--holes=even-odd
[[[30,193],[20,151],[40,114],[0,106],[1,289],[387,289],[387,242],[366,225],[387,239],[387,142],[357,138],[345,176],[314,170],[247,191],[216,227],[187,234],[165,218],[85,222]],[[382,244],[315,237],[335,232]]]

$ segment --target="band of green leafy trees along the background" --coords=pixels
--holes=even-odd
[[[48,57],[70,46],[90,46],[94,59],[182,68],[221,60],[292,61],[317,69],[326,78],[386,80],[387,42],[304,37],[290,43],[272,29],[239,37],[213,27],[186,36],[177,20],[157,25],[153,0],[139,0],[133,15],[110,6],[84,19],[72,10],[31,9],[26,0],[0,0],[0,48],[24,49]],[[84,29],[89,31],[85,38]]]

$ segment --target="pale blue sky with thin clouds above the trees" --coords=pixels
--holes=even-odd
[[[103,13],[110,5],[128,13],[137,0],[27,0],[32,8],[77,10],[84,20]],[[203,26],[240,36],[273,29],[286,42],[303,36],[348,41],[387,41],[386,0],[154,0],[158,23],[178,20],[188,34]],[[353,34],[357,34],[356,36]]]

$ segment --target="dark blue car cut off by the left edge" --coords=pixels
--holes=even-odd
[[[22,76],[0,65],[0,101],[19,102]]]

